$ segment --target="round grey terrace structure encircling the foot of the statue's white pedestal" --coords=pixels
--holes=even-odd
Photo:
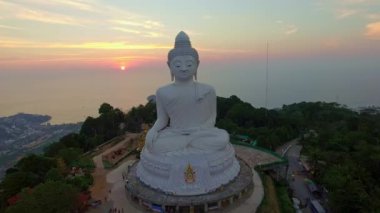
[[[137,162],[129,167],[126,190],[129,199],[146,210],[157,212],[207,212],[228,208],[248,197],[253,191],[252,170],[238,159],[240,172],[235,179],[214,192],[202,195],[179,196],[153,189],[136,175]]]

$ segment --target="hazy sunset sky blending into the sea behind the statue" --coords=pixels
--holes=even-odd
[[[220,96],[265,106],[268,41],[268,107],[380,105],[378,0],[0,0],[0,116],[145,103],[181,30]]]

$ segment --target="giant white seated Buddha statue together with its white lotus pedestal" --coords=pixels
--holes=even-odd
[[[157,121],[146,136],[137,176],[168,193],[207,193],[236,177],[240,166],[228,133],[215,127],[214,88],[194,81],[199,56],[184,32],[168,65],[174,82],[156,92]]]

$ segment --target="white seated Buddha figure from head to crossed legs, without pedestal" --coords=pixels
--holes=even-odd
[[[156,92],[157,121],[147,134],[147,148],[152,153],[223,149],[229,135],[215,128],[215,90],[194,81],[199,56],[182,31],[168,54],[168,65],[174,82]]]

